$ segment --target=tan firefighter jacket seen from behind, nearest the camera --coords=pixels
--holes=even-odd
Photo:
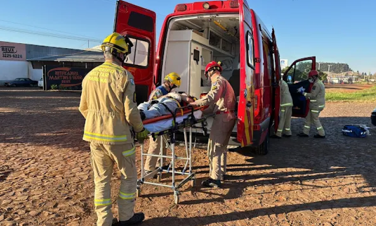
[[[86,119],[83,140],[117,145],[133,143],[130,126],[143,130],[133,75],[106,61],[82,82],[79,110]]]

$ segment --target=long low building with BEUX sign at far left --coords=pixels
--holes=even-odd
[[[104,62],[95,49],[67,49],[0,41],[0,85],[16,78],[40,80],[44,65],[94,68]]]

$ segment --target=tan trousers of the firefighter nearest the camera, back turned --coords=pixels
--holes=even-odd
[[[116,163],[121,172],[120,190],[117,196],[119,220],[128,220],[134,214],[137,186],[136,155],[134,144],[90,144],[91,166],[94,171],[94,205],[98,226],[111,226],[111,175]]]

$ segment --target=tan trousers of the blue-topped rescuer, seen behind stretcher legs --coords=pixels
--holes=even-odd
[[[166,145],[164,144],[164,141],[163,141],[163,138],[164,137],[165,139],[167,139],[167,136],[166,135],[163,135],[163,136],[158,136],[155,141],[154,139],[150,136],[149,138],[149,149],[147,151],[147,154],[154,154],[154,155],[159,155],[160,154],[160,146],[162,146],[163,148],[163,155],[166,155]],[[165,159],[163,159],[164,161],[162,162],[162,165],[163,163],[165,162]],[[154,157],[154,156],[147,156],[146,157],[146,161],[145,161],[145,166],[144,166],[144,169],[145,170],[148,170],[148,171],[153,171],[155,170],[155,167],[156,167],[156,163],[160,161],[160,158],[159,157]]]

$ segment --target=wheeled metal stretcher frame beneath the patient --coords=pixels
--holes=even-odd
[[[189,111],[190,115],[186,119],[184,119],[183,122],[176,123],[176,115],[177,115],[176,113],[179,110],[182,110],[184,108],[188,108],[190,110]],[[207,135],[207,132],[208,132],[208,130],[206,128],[206,126],[208,126],[207,118],[211,116],[210,115],[210,116],[206,116],[206,117],[201,117],[201,119],[196,119],[195,116],[194,116],[195,109],[199,109],[199,108],[194,108],[192,106],[177,107],[175,109],[174,114],[172,114],[173,120],[172,120],[172,127],[171,128],[149,134],[149,136],[152,136],[154,139],[156,139],[156,137],[158,137],[158,136],[162,136],[159,155],[144,153],[143,143],[141,144],[141,177],[137,180],[137,190],[136,190],[136,196],[137,197],[141,196],[141,185],[142,184],[168,187],[168,188],[171,188],[172,191],[173,191],[174,203],[178,204],[179,194],[180,194],[179,189],[189,181],[191,181],[192,187],[195,186],[195,181],[196,181],[195,172],[193,172],[193,170],[192,170],[192,129],[193,128],[200,128],[204,131],[204,135]],[[200,123],[201,123],[201,127],[195,126],[196,124],[200,124]],[[188,139],[187,139],[187,135],[186,135],[187,128],[189,128],[189,133],[190,133],[189,143],[187,141]],[[181,129],[183,129],[183,132],[184,132],[184,144],[185,144],[186,157],[177,157],[175,155],[175,143],[176,143],[175,134]],[[163,137],[163,135],[166,135],[166,134],[170,135],[169,141],[165,137]],[[170,149],[171,156],[167,155],[167,150],[166,150],[166,155],[163,155],[163,145],[164,144],[167,145],[167,149]],[[152,172],[145,174],[144,163],[143,163],[144,162],[143,161],[144,156],[146,156],[146,157],[147,156],[159,157],[159,159],[160,159],[159,160],[159,167],[156,168],[155,170],[153,170]],[[162,169],[164,158],[165,159],[171,159],[171,162],[168,165],[167,169]],[[175,164],[176,160],[185,160],[184,168],[181,171],[176,170],[176,167],[175,167],[176,166],[176,164]],[[187,169],[188,166],[189,166],[189,171],[186,172],[186,169]],[[171,181],[170,185],[160,183],[161,179],[162,179],[162,172],[172,174],[172,178],[171,178],[172,181]],[[156,173],[157,173],[157,182],[158,183],[146,181],[147,179],[152,178]],[[185,175],[186,177],[182,181],[180,181],[179,183],[175,183],[175,175],[176,174]]]

